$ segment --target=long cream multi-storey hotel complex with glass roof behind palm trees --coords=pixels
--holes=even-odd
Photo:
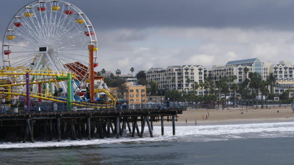
[[[223,76],[237,76],[237,79],[232,82],[241,84],[248,73],[244,73],[244,68],[248,68],[249,72],[258,72],[263,79],[266,79],[269,73],[274,73],[277,78],[275,93],[281,94],[287,89],[291,89],[289,97],[294,97],[294,65],[291,61],[280,61],[279,64],[272,62],[261,62],[258,58],[250,58],[244,60],[228,61],[225,65],[213,65],[212,69],[206,69],[203,65],[183,65],[183,66],[168,66],[167,68],[150,68],[146,73],[148,82],[153,81],[158,83],[159,89],[182,89],[189,92],[193,90],[193,83],[204,81],[207,77],[211,77],[213,84]],[[190,79],[190,83],[187,79]],[[199,91],[199,92],[198,92]],[[201,95],[198,89],[197,94]],[[261,95],[259,93],[258,95]],[[230,91],[227,96],[233,97],[233,91]],[[222,96],[224,97],[224,95]],[[240,98],[240,93],[236,91],[236,97]]]

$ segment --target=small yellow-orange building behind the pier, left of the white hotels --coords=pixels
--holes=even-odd
[[[129,104],[146,104],[146,85],[135,85],[131,82],[126,82],[128,92],[124,95]]]

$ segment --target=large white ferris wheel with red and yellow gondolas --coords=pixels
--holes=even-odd
[[[76,6],[61,0],[33,1],[21,8],[9,22],[3,38],[4,70],[59,71],[76,73],[75,89],[89,71],[88,45],[94,45],[94,66],[98,45],[93,26]],[[83,74],[81,74],[83,73]],[[8,76],[21,82],[25,76]],[[31,76],[31,81],[50,77]],[[66,82],[47,83],[52,91],[63,89]],[[33,92],[37,87],[31,86]]]

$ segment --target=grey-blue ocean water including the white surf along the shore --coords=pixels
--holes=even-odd
[[[166,124],[166,123],[165,123]],[[0,142],[0,164],[294,164],[294,122],[148,127],[92,140]]]

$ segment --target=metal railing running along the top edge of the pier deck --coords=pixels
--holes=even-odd
[[[136,111],[136,110],[173,110],[173,109],[181,109],[183,110],[185,105],[173,103],[158,103],[158,104],[118,104],[118,105],[91,105],[91,107],[87,106],[66,106],[65,104],[62,106],[57,106],[57,104],[53,104],[50,106],[33,106],[28,110],[27,107],[10,107],[10,106],[2,106],[0,108],[1,115],[21,115],[28,113],[50,113],[50,112],[87,112],[87,111],[103,111],[103,110],[113,110],[113,111]]]

